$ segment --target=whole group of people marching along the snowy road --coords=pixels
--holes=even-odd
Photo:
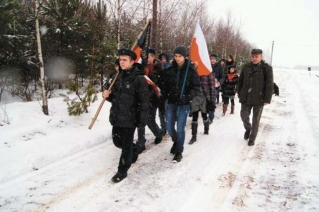
[[[192,113],[189,144],[197,140],[198,116],[202,116],[204,134],[209,133],[213,122],[216,104],[219,104],[221,92],[225,115],[229,101],[230,114],[234,114],[234,97],[238,93],[241,107],[241,119],[244,123],[244,139],[248,145],[254,145],[263,106],[270,104],[273,92],[272,67],[262,60],[262,50],[253,49],[251,62],[245,64],[240,76],[236,73],[236,64],[232,55],[218,61],[216,55],[210,55],[213,72],[207,76],[198,76],[197,61],[190,61],[184,46],[177,46],[173,59],[167,54],[149,51],[148,71],[135,63],[137,55],[130,49],[120,49],[119,76],[114,87],[102,94],[112,103],[110,122],[113,125],[114,144],[122,149],[118,172],[112,178],[120,182],[127,177],[131,164],[136,162],[145,150],[145,126],[155,136],[155,144],[161,142],[167,132],[173,141],[170,153],[173,162],[182,160],[185,142],[185,126],[189,111]],[[104,88],[108,88],[110,81]],[[160,126],[156,122],[159,108]],[[249,115],[253,109],[253,122]],[[176,126],[176,127],[175,127]],[[135,129],[138,129],[138,141],[133,142]]]

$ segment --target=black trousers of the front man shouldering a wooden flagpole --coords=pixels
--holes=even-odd
[[[126,173],[132,164],[135,128],[113,126],[112,137],[116,147],[122,149],[118,172]]]

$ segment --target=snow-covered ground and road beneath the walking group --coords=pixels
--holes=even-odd
[[[319,78],[274,75],[280,96],[264,107],[255,146],[243,139],[240,105],[224,117],[218,105],[193,145],[189,118],[180,163],[168,135],[155,145],[147,129],[147,151],[118,184],[109,103],[92,130],[99,101],[78,117],[62,98],[49,99],[49,116],[39,102],[1,103],[10,124],[0,126],[0,211],[319,211]]]

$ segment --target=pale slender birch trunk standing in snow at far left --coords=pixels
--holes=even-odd
[[[41,83],[41,91],[42,91],[42,111],[44,114],[48,115],[48,100],[46,97],[45,90],[45,81],[44,81],[44,66],[43,66],[43,58],[42,58],[42,49],[41,49],[41,38],[40,38],[40,30],[39,30],[39,4],[37,0],[34,0],[34,11],[35,11],[35,34],[36,34],[36,43],[37,43],[37,53],[39,60],[39,68],[40,68],[40,83]]]

